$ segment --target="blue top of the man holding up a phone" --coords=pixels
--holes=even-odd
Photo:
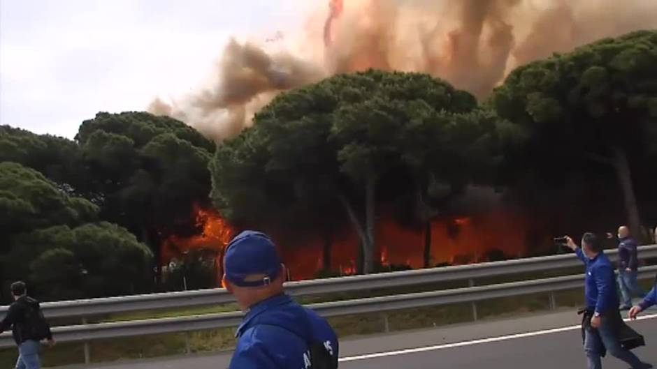
[[[599,253],[593,259],[584,255],[582,249],[575,250],[579,259],[586,265],[586,280],[584,295],[586,308],[604,314],[608,310],[617,309],[619,296],[616,292],[614,267],[605,253]]]

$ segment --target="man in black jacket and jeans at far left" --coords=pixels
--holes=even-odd
[[[40,369],[39,345],[48,340],[50,347],[55,345],[50,326],[43,319],[38,301],[27,296],[23,282],[11,285],[14,302],[9,306],[6,317],[0,322],[0,333],[11,328],[18,346],[16,369]]]

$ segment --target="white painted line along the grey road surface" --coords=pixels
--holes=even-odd
[[[638,317],[637,320],[653,319],[653,318],[656,318],[656,317],[657,317],[657,314],[644,315],[644,316]],[[626,322],[628,321],[628,319],[625,319],[625,320],[626,320]],[[445,345],[416,347],[416,348],[412,348],[412,349],[400,349],[400,350],[389,351],[389,352],[377,352],[375,354],[347,356],[347,357],[341,357],[340,359],[338,359],[338,361],[340,361],[342,363],[342,362],[346,362],[346,361],[377,359],[377,358],[385,357],[385,356],[397,356],[397,355],[404,355],[404,354],[414,354],[416,352],[435,351],[435,350],[438,350],[438,349],[451,349],[451,348],[454,348],[454,347],[479,345],[481,343],[500,342],[500,341],[505,341],[505,340],[514,340],[516,338],[542,336],[544,334],[550,334],[550,333],[574,331],[575,329],[580,329],[580,328],[581,328],[581,326],[578,324],[576,326],[564,326],[564,327],[561,327],[561,328],[545,329],[543,331],[516,333],[516,334],[511,334],[511,335],[508,335],[508,336],[498,336],[498,337],[491,337],[491,338],[481,338],[479,340],[470,340],[470,341],[447,343]]]

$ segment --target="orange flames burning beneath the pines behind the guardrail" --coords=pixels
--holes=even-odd
[[[194,206],[193,214],[201,233],[194,236],[170,236],[163,244],[163,262],[185,255],[190,250],[215,252],[217,278],[220,280],[224,251],[236,229],[214,209]],[[491,250],[498,250],[507,257],[522,257],[528,247],[540,249],[543,244],[528,244],[526,234],[532,229],[528,218],[521,213],[492,211],[472,216],[436,218],[431,221],[430,265],[468,264],[487,261]],[[535,228],[535,227],[534,227]],[[282,259],[294,280],[315,278],[324,269],[324,245],[319,235],[285,234],[280,229],[266,229],[277,244]],[[424,266],[424,229],[399,225],[391,209],[381,206],[377,222],[377,247],[381,266],[406,265],[414,269]],[[549,237],[546,238],[549,241]],[[341,276],[357,273],[356,255],[359,238],[351,227],[345,225],[333,234],[331,257],[328,265]]]

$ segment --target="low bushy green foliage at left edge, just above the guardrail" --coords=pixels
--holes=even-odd
[[[36,170],[0,163],[2,279],[34,282],[48,299],[143,289],[152,253],[127,229],[90,223],[98,211]]]

